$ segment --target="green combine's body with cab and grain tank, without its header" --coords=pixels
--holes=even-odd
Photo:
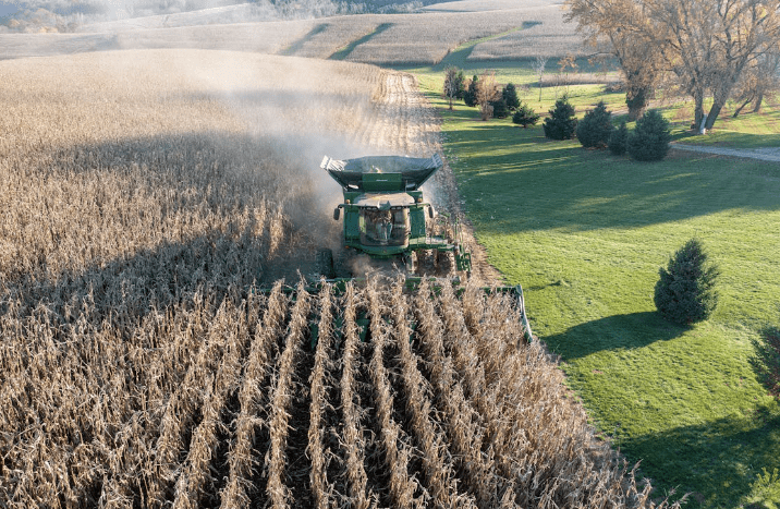
[[[421,186],[441,167],[441,158],[428,159],[374,156],[349,160],[322,159],[320,167],[340,185],[344,203],[333,213],[339,220],[343,209],[344,253],[368,255],[390,260],[407,274],[418,274],[417,255],[434,253],[437,266],[452,265],[466,275],[471,272],[471,254],[463,250],[456,223],[438,230],[450,231],[454,240],[436,234],[437,221],[432,205],[423,196]],[[343,265],[343,264],[342,264]],[[318,253],[320,272],[332,278],[337,274],[329,250]]]

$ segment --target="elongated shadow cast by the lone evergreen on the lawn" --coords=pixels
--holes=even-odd
[[[586,322],[545,337],[544,341],[565,361],[571,361],[602,350],[633,350],[656,341],[669,341],[686,330],[686,327],[665,320],[656,312],[643,312]]]

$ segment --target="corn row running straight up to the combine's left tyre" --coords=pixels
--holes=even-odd
[[[309,377],[312,386],[312,404],[309,410],[308,453],[312,458],[312,492],[317,509],[329,509],[330,485],[326,473],[328,463],[324,450],[324,414],[328,407],[329,381],[327,372],[330,369],[330,350],[333,343],[333,312],[330,284],[322,286],[319,298],[319,323],[317,351],[314,357],[314,369]]]

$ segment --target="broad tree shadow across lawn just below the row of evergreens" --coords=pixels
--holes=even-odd
[[[539,129],[495,123],[449,137],[459,153],[472,154],[456,167],[459,184],[488,234],[639,228],[730,209],[780,209],[779,165],[675,152],[638,162],[546,141]]]

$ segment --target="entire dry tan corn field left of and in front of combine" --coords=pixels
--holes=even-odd
[[[509,295],[298,283],[409,76],[117,57],[0,62],[0,507],[653,507]]]

